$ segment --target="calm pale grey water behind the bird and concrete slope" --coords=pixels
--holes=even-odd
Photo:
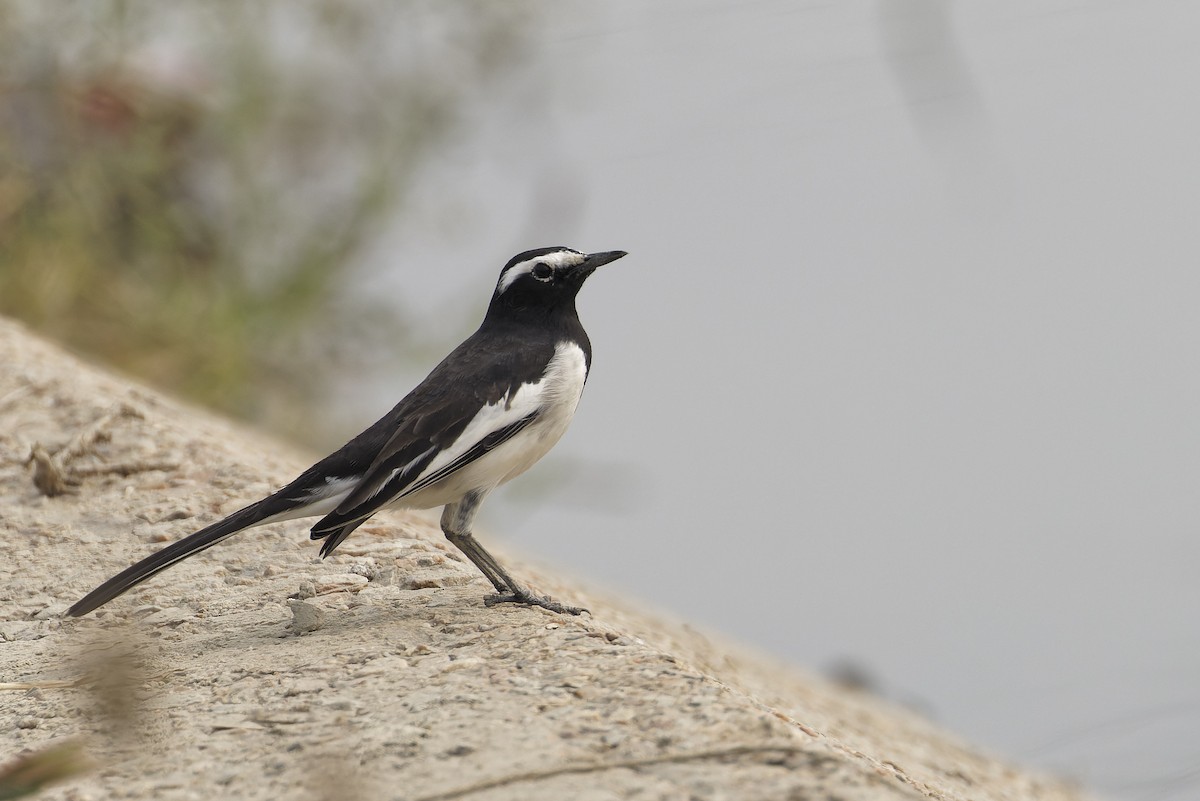
[[[1200,6],[546,14],[370,282],[450,342],[520,249],[631,253],[488,536],[1111,797],[1200,795]]]

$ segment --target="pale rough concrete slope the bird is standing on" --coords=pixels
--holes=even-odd
[[[60,619],[308,460],[4,320],[0,363],[0,682],[92,679],[0,691],[0,759],[82,737],[98,763],[47,799],[1082,797],[511,556],[593,615],[486,607],[432,516],[379,516],[324,562],[302,520],[252,530]],[[71,463],[80,483],[42,496],[30,446],[125,406]]]

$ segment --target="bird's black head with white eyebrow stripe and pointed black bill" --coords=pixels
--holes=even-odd
[[[512,257],[488,307],[488,315],[508,312],[575,311],[575,295],[596,267],[616,261],[624,251],[580,253],[569,247],[542,247]]]

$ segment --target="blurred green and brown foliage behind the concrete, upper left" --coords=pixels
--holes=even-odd
[[[310,430],[328,366],[401,332],[342,291],[356,257],[528,23],[466,0],[0,5],[0,313]]]

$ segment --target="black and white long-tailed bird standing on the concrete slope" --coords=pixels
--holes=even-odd
[[[442,530],[500,595],[552,612],[582,609],[532,592],[472,534],[488,493],[544,457],[575,415],[592,343],[575,296],[592,272],[624,251],[566,247],[520,253],[504,265],[482,325],[373,426],[278,492],[184,537],[79,600],[79,616],[244,529],[320,516],[312,538],[334,553],[382,508],[445,506]]]

